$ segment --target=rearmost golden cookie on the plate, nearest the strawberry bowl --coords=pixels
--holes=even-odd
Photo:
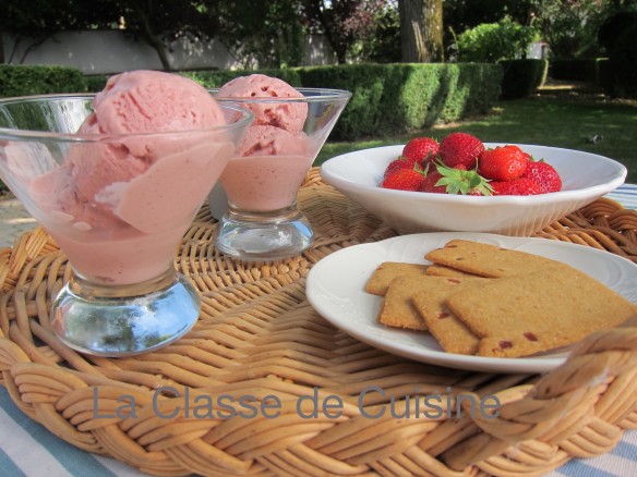
[[[494,245],[453,240],[443,248],[425,255],[428,260],[480,277],[507,277],[530,273],[564,264],[526,252],[509,250]]]

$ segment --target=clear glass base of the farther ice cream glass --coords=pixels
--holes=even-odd
[[[310,221],[296,204],[272,212],[229,207],[217,225],[216,246],[243,261],[273,261],[299,255],[313,238]]]

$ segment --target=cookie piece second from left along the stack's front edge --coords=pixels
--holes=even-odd
[[[397,277],[392,280],[378,314],[378,322],[394,328],[426,330],[424,320],[413,306],[413,295],[426,290],[422,277]]]

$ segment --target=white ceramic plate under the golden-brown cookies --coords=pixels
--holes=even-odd
[[[310,271],[308,299],[318,314],[346,333],[372,346],[423,363],[490,372],[544,372],[564,363],[565,351],[524,358],[445,353],[428,333],[392,329],[376,322],[381,298],[364,292],[372,271],[383,261],[426,264],[424,255],[452,238],[489,243],[563,261],[637,303],[637,266],[616,255],[546,238],[458,232],[404,235],[335,252]]]

